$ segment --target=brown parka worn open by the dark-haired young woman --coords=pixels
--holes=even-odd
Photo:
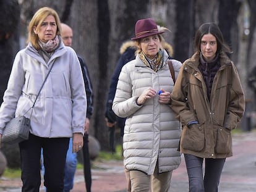
[[[220,69],[211,88],[198,69],[199,52],[182,64],[172,94],[172,107],[182,123],[180,151],[202,158],[233,155],[231,130],[244,114],[245,99],[239,74],[233,62],[220,52]],[[188,127],[197,120],[199,125]]]

